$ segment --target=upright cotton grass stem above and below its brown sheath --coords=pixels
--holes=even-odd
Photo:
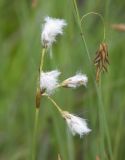
[[[44,55],[46,52],[46,48],[42,49],[41,61],[39,66],[39,75],[38,75],[38,86],[37,89],[40,89],[40,73],[43,69],[44,64]],[[34,121],[34,132],[33,132],[33,144],[32,144],[32,160],[36,160],[36,148],[37,148],[37,132],[38,132],[38,119],[39,119],[40,106],[36,106],[35,108],[35,121]]]

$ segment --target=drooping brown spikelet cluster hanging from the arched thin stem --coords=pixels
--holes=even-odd
[[[94,64],[96,66],[96,81],[98,82],[101,72],[107,71],[107,65],[109,64],[107,44],[100,44],[99,49],[96,52]]]

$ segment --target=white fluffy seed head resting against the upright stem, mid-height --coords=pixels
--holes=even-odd
[[[42,72],[40,75],[40,89],[41,92],[52,94],[58,85],[58,77],[61,73],[58,70],[50,72]]]

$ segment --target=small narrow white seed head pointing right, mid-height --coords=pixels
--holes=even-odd
[[[70,77],[62,82],[63,87],[77,88],[81,85],[86,86],[88,77],[85,74],[78,73],[73,77]]]

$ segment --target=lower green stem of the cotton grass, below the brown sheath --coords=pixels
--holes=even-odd
[[[36,160],[36,148],[37,148],[36,139],[37,139],[38,118],[39,118],[39,108],[36,108],[35,109],[34,133],[33,133],[32,160]]]

